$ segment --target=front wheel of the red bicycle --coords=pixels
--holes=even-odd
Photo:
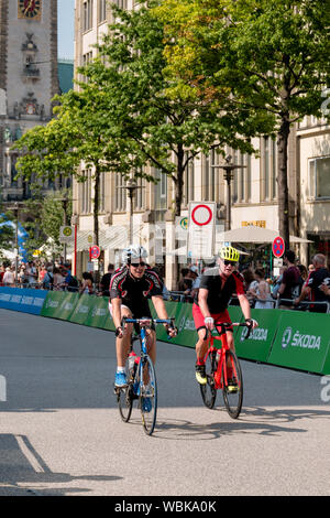
[[[227,384],[224,382],[223,369],[226,368],[226,366],[228,367],[230,366],[230,370],[232,371],[232,377],[235,379],[235,388],[228,385],[228,379],[227,379]],[[241,413],[242,403],[243,403],[243,377],[242,377],[240,361],[237,355],[232,353],[232,350],[226,352],[226,360],[223,361],[223,367],[222,367],[222,380],[223,380],[222,395],[223,395],[224,407],[229,416],[232,419],[237,419]]]

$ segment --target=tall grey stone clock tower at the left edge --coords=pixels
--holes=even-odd
[[[59,93],[57,0],[0,0],[0,196],[4,205],[30,196],[15,180],[10,150],[25,131],[47,123]]]

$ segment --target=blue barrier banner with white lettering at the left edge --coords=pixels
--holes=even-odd
[[[0,307],[40,315],[46,295],[45,290],[0,287]]]

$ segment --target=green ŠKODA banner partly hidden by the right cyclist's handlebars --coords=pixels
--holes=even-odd
[[[240,311],[241,312],[241,311]],[[238,327],[235,335],[235,349],[240,358],[267,361],[276,331],[278,327],[279,312],[274,317],[274,310],[252,310],[251,316],[258,323],[258,327],[252,331],[249,338],[246,327]],[[241,312],[241,320],[244,317]]]

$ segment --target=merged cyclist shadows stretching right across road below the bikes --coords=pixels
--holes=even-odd
[[[204,423],[189,420],[166,419],[158,421],[154,432],[155,438],[172,441],[210,441],[235,434],[257,434],[279,436],[285,433],[307,433],[305,428],[285,425],[302,419],[329,419],[330,411],[314,409],[272,409],[245,408],[239,419],[230,420],[224,409],[209,410],[209,417]],[[223,420],[222,420],[222,416]],[[217,414],[218,421],[213,421]],[[211,418],[210,418],[211,416]],[[211,419],[211,422],[209,422]],[[167,434],[170,432],[170,434]]]

